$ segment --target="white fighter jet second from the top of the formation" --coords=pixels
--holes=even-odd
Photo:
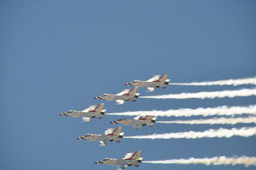
[[[95,97],[94,99],[106,99],[106,100],[115,100],[117,104],[124,104],[124,100],[128,102],[132,100],[132,102],[136,102],[138,95],[140,93],[136,93],[138,87],[130,89],[124,89],[122,92],[118,94],[102,94],[101,96]]]

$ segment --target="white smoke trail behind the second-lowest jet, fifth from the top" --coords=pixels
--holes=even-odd
[[[134,139],[170,139],[170,138],[187,138],[187,139],[195,139],[195,138],[230,138],[232,136],[242,136],[249,137],[256,135],[256,127],[244,127],[244,128],[232,128],[232,129],[224,129],[219,128],[205,130],[204,132],[178,132],[178,133],[165,133],[165,134],[152,134],[152,135],[141,135],[141,136],[124,136],[123,138],[134,138]]]

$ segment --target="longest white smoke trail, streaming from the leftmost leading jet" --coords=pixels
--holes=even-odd
[[[179,109],[179,110],[152,110],[152,111],[135,111],[135,112],[120,112],[120,113],[105,113],[111,115],[127,115],[127,116],[231,116],[231,115],[242,115],[242,114],[253,114],[256,115],[256,105],[249,106],[218,106],[216,108],[196,108],[196,109]]]

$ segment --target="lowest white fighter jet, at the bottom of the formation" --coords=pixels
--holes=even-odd
[[[140,166],[140,162],[143,158],[139,158],[141,151],[133,153],[127,153],[124,157],[120,159],[110,159],[110,158],[105,158],[103,160],[94,162],[94,164],[108,164],[108,165],[117,165],[119,167],[118,170],[123,170],[127,166],[132,166],[134,164],[135,167]]]

